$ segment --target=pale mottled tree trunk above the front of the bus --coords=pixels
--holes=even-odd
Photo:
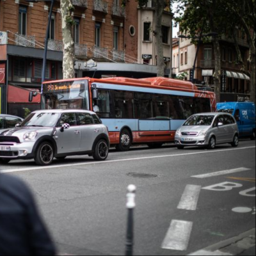
[[[62,24],[62,37],[63,37],[63,79],[75,77],[75,44],[72,38],[72,26],[74,19],[72,12],[74,6],[71,0],[61,0],[61,24]]]

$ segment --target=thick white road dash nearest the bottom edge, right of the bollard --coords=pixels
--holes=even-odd
[[[193,227],[191,221],[172,220],[164,238],[162,248],[167,250],[186,251]]]

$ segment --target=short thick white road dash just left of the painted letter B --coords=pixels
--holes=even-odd
[[[178,209],[195,211],[201,188],[201,186],[187,185],[179,202]]]

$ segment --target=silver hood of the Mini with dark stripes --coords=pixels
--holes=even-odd
[[[15,136],[23,140],[27,132],[38,132],[39,134],[51,135],[53,127],[17,127],[0,132],[1,136]]]

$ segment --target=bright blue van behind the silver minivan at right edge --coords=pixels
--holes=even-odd
[[[255,104],[253,102],[224,102],[217,104],[217,111],[229,113],[236,118],[241,137],[255,140]]]

